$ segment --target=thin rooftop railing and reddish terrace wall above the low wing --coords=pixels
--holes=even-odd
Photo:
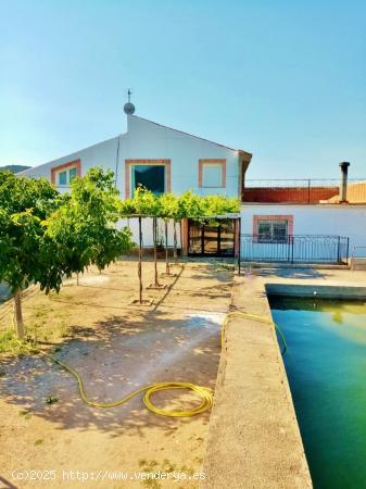
[[[242,202],[338,203],[341,181],[333,179],[245,179]],[[348,201],[366,202],[366,178],[348,179]]]

